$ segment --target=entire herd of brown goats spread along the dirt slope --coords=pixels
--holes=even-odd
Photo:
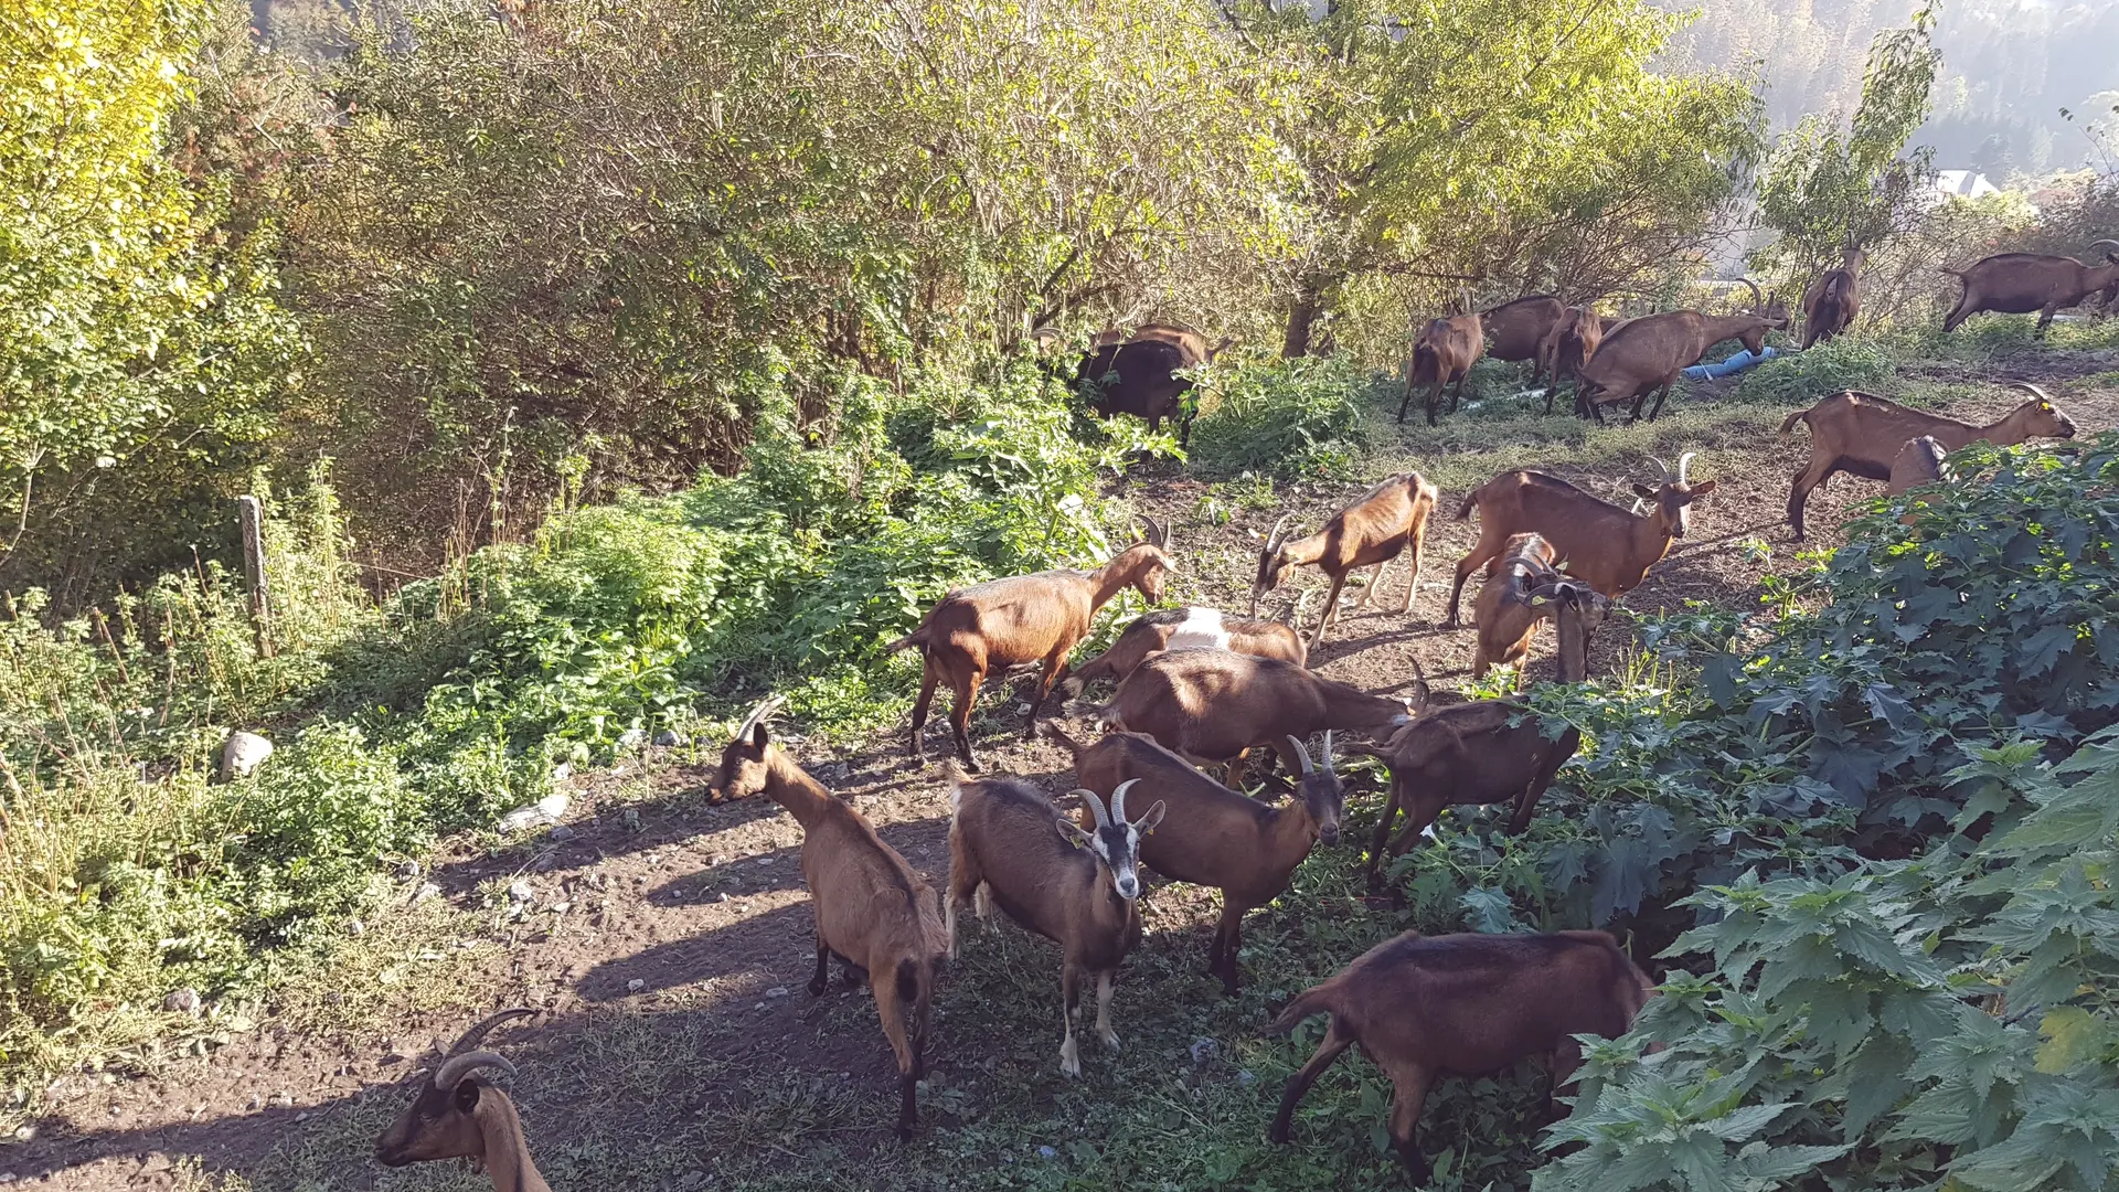
[[[1949,314],[1949,327],[1973,310],[2036,310],[2045,327],[2053,310],[2096,291],[2104,291],[2111,303],[2119,293],[2119,255],[2106,257],[2111,263],[2098,267],[2026,255],[1981,261],[1962,274],[1964,297]],[[2075,274],[2053,261],[2064,261]],[[1850,255],[1846,267],[1812,286],[1805,348],[1852,318],[1856,269],[1858,259]],[[1555,380],[1577,378],[1585,395],[1579,409],[1632,399],[1636,416],[1651,388],[1668,388],[1676,369],[1714,341],[1740,337],[1757,348],[1752,339],[1786,322],[1778,303],[1761,303],[1755,314],[1655,314],[1610,331],[1593,314],[1562,308],[1551,297],[1435,320],[1420,348],[1430,356],[1415,352],[1409,367],[1409,380],[1432,386],[1428,416],[1437,414],[1441,384],[1462,382],[1462,367],[1468,367],[1460,361],[1462,344],[1445,352],[1430,348],[1430,339],[1464,335],[1473,354],[1481,344],[1485,350],[1517,350],[1532,316],[1547,320],[1541,329],[1545,348],[1534,352],[1551,352],[1536,358]],[[1182,356],[1199,348],[1182,337],[1197,335],[1161,331],[1168,333],[1151,329],[1125,344],[1098,346],[1085,361],[1085,375],[1091,375],[1091,365],[1119,365],[1119,348],[1151,344],[1153,371],[1163,386],[1157,395],[1180,390],[1187,382],[1172,373],[1197,363]],[[2028,382],[2013,384],[2028,390],[2030,401],[1992,424],[1941,418],[1863,392],[1839,392],[1793,414],[1782,435],[1805,422],[1812,437],[1810,460],[1795,475],[1788,496],[1795,534],[1803,534],[1810,490],[1837,471],[1888,479],[1890,492],[1901,494],[1947,484],[1943,456],[1966,443],[1986,439],[2009,445],[2075,435],[2075,424],[2043,390]],[[1127,411],[1174,416],[1176,405]],[[1638,501],[1632,509],[1538,471],[1509,471],[1473,490],[1456,518],[1468,520],[1477,511],[1479,541],[1456,564],[1443,626],[1458,626],[1464,585],[1481,575],[1475,674],[1492,666],[1521,666],[1541,626],[1553,621],[1560,679],[1585,679],[1589,636],[1613,600],[1646,579],[1672,541],[1685,537],[1691,505],[1714,492],[1712,479],[1687,475],[1691,458],[1680,456],[1676,467],[1657,460],[1661,477],[1653,486],[1634,484]],[[1377,865],[1405,853],[1445,806],[1513,802],[1509,831],[1526,829],[1553,774],[1574,755],[1581,742],[1577,730],[1553,725],[1557,732],[1547,734],[1536,713],[1515,700],[1430,706],[1424,677],[1413,683],[1415,700],[1399,700],[1307,670],[1310,651],[1337,619],[1339,592],[1352,573],[1375,568],[1360,594],[1360,604],[1367,604],[1384,585],[1384,568],[1407,556],[1399,611],[1411,609],[1437,501],[1432,484],[1405,473],[1333,513],[1314,534],[1286,537],[1288,518],[1282,518],[1259,551],[1248,617],[1204,607],[1146,613],[1127,624],[1108,651],[1072,672],[1068,655],[1119,592],[1136,590],[1151,607],[1161,602],[1165,577],[1176,568],[1165,526],[1146,522],[1142,541],[1093,571],[1047,571],[949,592],[911,634],[890,645],[892,651],[918,649],[924,662],[911,715],[915,759],[922,757],[922,730],[937,687],[947,683],[954,694],[949,874],[941,897],[875,834],[867,817],[780,749],[769,730],[782,702],[778,696],[744,719],[723,749],[712,797],[765,795],[801,823],[801,872],[816,914],[809,993],[826,991],[831,957],[839,957],[848,980],[865,980],[873,991],[898,1065],[898,1137],[913,1130],[937,967],[945,957],[956,959],[956,918],[964,904],[975,906],[979,918],[998,906],[1021,927],[1060,944],[1060,1069],[1079,1075],[1074,1022],[1083,984],[1091,978],[1096,1035],[1112,1050],[1119,1046],[1110,1027],[1112,978],[1142,937],[1140,867],[1223,893],[1206,971],[1235,993],[1244,914],[1284,893],[1295,867],[1318,842],[1339,842],[1346,791],[1333,768],[1335,734],[1382,738],[1382,744],[1346,747],[1379,759],[1390,774],[1390,793],[1367,855],[1371,884]],[[1907,513],[1909,520],[1916,515]],[[1293,624],[1257,615],[1259,600],[1295,566],[1316,566],[1331,579],[1307,643]],[[1301,604],[1295,619],[1301,619]],[[1115,696],[1091,711],[1098,728],[1106,730],[1098,740],[1083,742],[1045,725],[1047,736],[1074,757],[1076,789],[1062,800],[1019,778],[975,776],[979,761],[968,728],[979,685],[987,674],[1032,664],[1036,683],[1026,740],[1036,736],[1038,713],[1055,685],[1066,696],[1081,696],[1089,683],[1117,683]],[[1322,744],[1312,755],[1305,742],[1316,734],[1322,734]],[[1242,793],[1244,759],[1254,749],[1269,749],[1282,761],[1295,797],[1271,804]],[[1210,766],[1225,768],[1223,778],[1212,776]],[[1127,802],[1140,808],[1144,800],[1153,802],[1136,817]],[[1066,802],[1074,802],[1076,810],[1064,810]],[[1405,827],[1392,838],[1401,810]],[[1428,1167],[1415,1126],[1437,1077],[1485,1075],[1545,1056],[1551,1088],[1560,1088],[1581,1063],[1574,1037],[1623,1035],[1653,993],[1649,976],[1604,931],[1403,933],[1386,940],[1295,997],[1269,1024],[1269,1031],[1286,1033],[1316,1014],[1331,1016],[1316,1054],[1288,1082],[1269,1137],[1288,1139],[1295,1105],[1310,1084],[1358,1044],[1392,1082],[1388,1133],[1407,1173],[1424,1181]],[[513,1073],[506,1058],[479,1050],[479,1041],[496,1024],[528,1014],[496,1014],[458,1039],[384,1133],[377,1158],[394,1167],[477,1156],[496,1190],[549,1192],[530,1160],[513,1103],[481,1075],[496,1069]]]

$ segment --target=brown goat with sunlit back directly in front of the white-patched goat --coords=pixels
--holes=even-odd
[[[1301,759],[1286,749],[1286,738],[1329,728],[1390,732],[1413,719],[1413,704],[1369,696],[1278,658],[1172,649],[1142,662],[1119,694],[1096,708],[1096,719],[1102,728],[1146,734],[1195,766],[1227,761],[1229,785],[1242,787],[1244,753],[1254,747],[1271,747],[1297,774]]]

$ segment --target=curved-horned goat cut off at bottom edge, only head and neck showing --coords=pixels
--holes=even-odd
[[[515,1065],[496,1052],[473,1050],[494,1027],[536,1014],[528,1007],[502,1010],[464,1031],[441,1063],[420,1084],[413,1103],[375,1139],[375,1160],[405,1167],[434,1158],[470,1158],[485,1164],[494,1192],[551,1192],[551,1184],[530,1160],[523,1122],[515,1103],[479,1071],[515,1075]]]

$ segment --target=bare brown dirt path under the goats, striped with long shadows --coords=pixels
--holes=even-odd
[[[2070,392],[2064,403],[2085,431],[2119,424],[2119,390]],[[1757,428],[1729,439],[1702,448],[1693,473],[1721,486],[1695,509],[1693,534],[1625,598],[1627,611],[1678,609],[1687,600],[1750,609],[1763,573],[1801,566],[1782,507],[1805,443],[1782,448]],[[1649,469],[1638,456],[1621,456],[1555,471],[1591,492],[1617,492]],[[1197,479],[1148,481],[1132,496],[1178,526],[1187,571],[1174,596],[1244,609],[1252,534],[1265,534],[1280,511],[1314,526],[1363,488],[1288,488],[1276,509],[1235,507],[1225,524],[1204,515],[1208,486]],[[1810,545],[1837,545],[1837,507],[1875,490],[1839,479],[1814,496]],[[1462,496],[1443,492],[1411,617],[1394,611],[1405,583],[1403,564],[1394,564],[1390,598],[1379,600],[1392,611],[1348,613],[1316,655],[1322,674],[1403,691],[1418,660],[1437,687],[1464,679],[1471,630],[1437,628],[1452,564],[1475,537],[1471,524],[1452,518]],[[1765,558],[1759,541],[1767,543]],[[1322,596],[1314,573],[1276,592],[1269,609],[1284,609],[1301,588],[1318,590],[1307,613],[1314,617]],[[1593,670],[1619,664],[1630,641],[1623,624],[1608,626]],[[1545,677],[1549,668],[1541,655],[1532,672]],[[1068,717],[1070,730],[1087,730],[1079,708]],[[1015,696],[1004,700],[990,687],[975,723],[994,770],[1064,789],[1064,751],[1015,736]],[[941,751],[945,730],[937,723],[930,734],[930,753]],[[852,755],[822,755],[803,742],[795,751],[826,785],[867,789],[856,806],[939,884],[947,867],[941,766],[911,770],[896,734]],[[53,1082],[53,1109],[36,1122],[34,1139],[0,1150],[0,1184],[178,1188],[197,1179],[184,1158],[197,1156],[203,1171],[244,1173],[256,1188],[483,1186],[445,1164],[388,1173],[369,1150],[400,1105],[398,1082],[426,1050],[479,1012],[515,1003],[545,1010],[496,1039],[521,1067],[517,1099],[523,1116],[540,1122],[540,1162],[555,1188],[610,1186],[604,1177],[619,1162],[615,1154],[625,1154],[621,1167],[636,1186],[665,1188],[704,1188],[710,1156],[731,1147],[773,1147],[797,1158],[790,1145],[867,1154],[884,1139],[884,1099],[894,1080],[873,1007],[858,991],[812,999],[803,988],[814,952],[797,867],[799,827],[763,800],[708,806],[712,759],[670,749],[576,778],[566,831],[557,834],[564,840],[498,853],[456,842],[445,851],[430,878],[449,904],[479,910],[483,925],[453,954],[424,961],[453,986],[434,1010],[398,1010],[360,1031],[307,1035],[267,1020],[208,1056],[165,1063],[153,1077],[66,1075]],[[500,893],[515,882],[528,901]],[[1172,887],[1148,906],[1151,937],[1180,940],[1144,963],[1151,971],[1165,965],[1178,980],[1204,948],[1212,897]],[[1021,997],[1051,999],[1049,959],[1026,942],[1004,948],[992,963],[1021,969]],[[1148,952],[1157,948],[1151,940]],[[990,969],[981,980],[1017,978]],[[941,1005],[937,1075],[922,1099],[937,1124],[977,1122],[981,1082],[1028,1080],[1043,1088],[1057,1080],[1049,1071],[1057,1022],[1053,1037],[971,1037],[947,1018],[977,1007],[962,997]],[[879,1173],[898,1162],[877,1156]]]

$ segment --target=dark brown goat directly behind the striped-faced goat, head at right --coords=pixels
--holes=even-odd
[[[1221,889],[1221,925],[1206,971],[1233,995],[1244,914],[1280,897],[1318,840],[1339,842],[1346,787],[1333,772],[1331,732],[1322,766],[1312,766],[1301,742],[1288,740],[1301,764],[1301,785],[1295,800],[1278,808],[1223,787],[1138,732],[1115,732],[1096,744],[1081,744],[1051,723],[1045,734],[1074,753],[1074,781],[1083,787],[1110,793],[1138,778],[1170,806],[1161,831],[1140,840],[1140,863],[1165,878]],[[1091,827],[1087,810],[1076,823]]]

